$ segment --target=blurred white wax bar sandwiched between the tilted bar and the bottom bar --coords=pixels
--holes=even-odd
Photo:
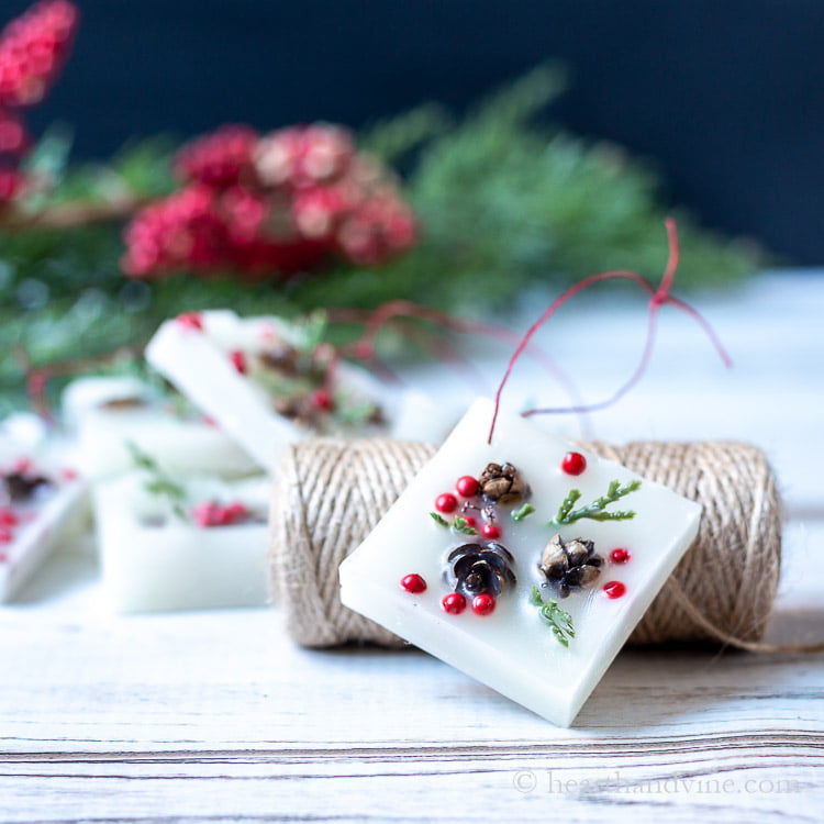
[[[63,394],[63,414],[77,438],[79,468],[91,480],[133,468],[129,442],[170,472],[257,471],[257,465],[219,427],[176,414],[169,397],[137,378],[74,380]]]

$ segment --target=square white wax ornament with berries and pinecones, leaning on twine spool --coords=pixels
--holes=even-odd
[[[568,726],[701,508],[478,400],[341,565],[341,600]]]

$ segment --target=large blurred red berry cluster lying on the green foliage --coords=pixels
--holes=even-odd
[[[185,146],[175,169],[183,188],[126,229],[129,275],[289,277],[334,257],[378,265],[415,238],[389,172],[338,126],[264,136],[250,126],[223,126]]]

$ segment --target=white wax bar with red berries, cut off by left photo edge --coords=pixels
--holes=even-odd
[[[14,597],[85,517],[86,483],[65,449],[0,439],[0,602]]]

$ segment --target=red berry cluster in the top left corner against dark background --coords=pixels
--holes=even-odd
[[[69,0],[41,0],[0,32],[0,204],[25,183],[14,164],[31,141],[18,110],[40,103],[57,79],[78,18]]]

